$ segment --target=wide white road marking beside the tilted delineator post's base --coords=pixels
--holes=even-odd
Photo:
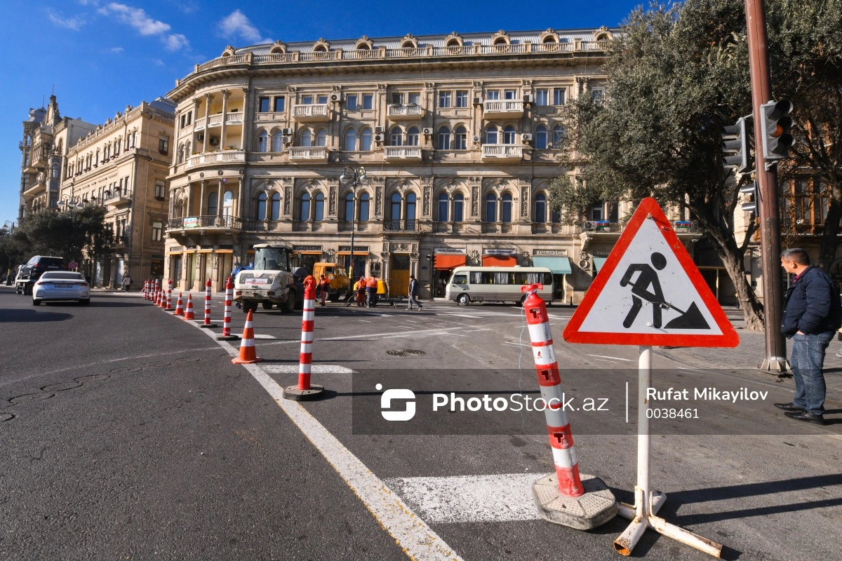
[[[386,479],[425,521],[536,520],[532,484],[541,474],[457,475]]]

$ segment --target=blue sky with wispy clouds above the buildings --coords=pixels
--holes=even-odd
[[[55,87],[62,116],[102,123],[164,95],[226,45],[620,24],[639,0],[561,2],[253,2],[3,0],[0,225],[18,216],[21,122]]]

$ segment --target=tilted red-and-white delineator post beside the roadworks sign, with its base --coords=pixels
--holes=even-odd
[[[541,399],[546,404],[546,431],[550,437],[556,473],[538,479],[532,486],[532,494],[538,513],[544,520],[578,530],[590,530],[616,516],[617,501],[602,479],[579,474],[573,432],[563,409],[562,378],[552,347],[550,319],[546,315],[544,300],[536,294],[540,288],[541,284],[530,284],[520,291],[527,294],[524,312]]]

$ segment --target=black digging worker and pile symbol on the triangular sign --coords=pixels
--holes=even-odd
[[[707,325],[707,321],[701,315],[695,302],[690,303],[690,308],[687,311],[682,311],[663,299],[661,282],[658,280],[658,273],[655,269],[662,271],[663,267],[667,266],[667,258],[663,257],[662,253],[655,251],[650,257],[650,261],[652,261],[651,266],[648,263],[632,263],[620,280],[621,287],[626,287],[629,283],[632,283],[632,310],[629,310],[626,319],[623,320],[623,327],[626,329],[632,327],[637,314],[643,307],[643,300],[646,300],[652,304],[652,326],[656,329],[661,326],[662,310],[669,310],[670,308],[678,311],[681,315],[671,320],[666,325],[667,329],[710,329],[710,325]],[[632,281],[634,273],[640,274],[637,275],[636,280]],[[650,286],[652,287],[651,291],[649,290]]]

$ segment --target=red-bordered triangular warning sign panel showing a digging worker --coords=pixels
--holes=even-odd
[[[739,344],[654,198],[637,207],[563,336],[570,343],[603,345]]]

